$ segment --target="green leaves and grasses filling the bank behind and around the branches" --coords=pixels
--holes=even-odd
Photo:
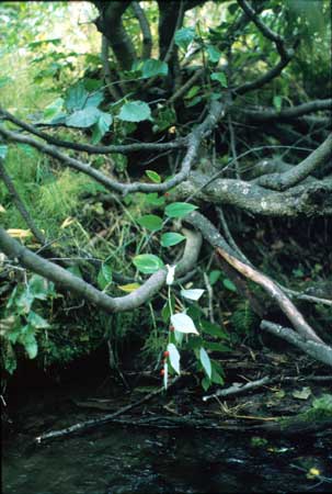
[[[185,12],[183,25],[174,32],[174,46],[169,56],[159,59],[154,40],[160,12],[157,2],[144,3],[152,32],[152,50],[146,58],[136,57],[131,67],[124,70],[119,68],[115,52],[107,55],[106,60],[100,56],[100,33],[91,22],[98,12],[92,4],[2,2],[0,23],[5,24],[7,44],[0,50],[1,105],[38,128],[46,130],[50,136],[69,143],[127,145],[160,141],[165,144],[194,132],[202,122],[206,105],[234,98],[232,88],[261,77],[279,59],[278,50],[271,49],[271,40],[253,22],[241,21],[242,11],[237,2],[209,2],[190,9]],[[311,5],[309,3],[304,0],[271,0],[262,9],[261,19],[289,46],[296,46],[296,56],[294,63],[285,66],[282,77],[273,78],[263,89],[259,87],[241,96],[237,103],[239,110],[260,105],[279,112],[302,100],[329,97],[328,45],[331,26],[325,20],[329,4],[322,1],[322,8],[317,9],[312,2]],[[77,26],[82,12],[87,22],[79,22]],[[133,49],[139,52],[139,23],[127,15],[122,20]],[[237,30],[231,29],[234,25],[238,25]],[[318,41],[314,44],[311,43],[312,36]],[[159,42],[162,42],[161,36]],[[110,80],[105,66],[110,69]],[[202,78],[186,87],[191,77],[197,74],[197,68],[204,69]],[[112,88],[118,91],[118,98],[112,96]],[[184,90],[176,99],[176,91],[181,88]],[[238,122],[233,124],[238,125]],[[4,122],[4,126],[18,130],[9,122]],[[248,168],[254,169],[253,157],[243,165],[241,161],[243,169],[240,168],[240,171],[234,171],[234,161],[238,160],[239,148],[243,147],[247,151],[247,147],[254,147],[256,142],[261,146],[262,136],[255,133],[248,135],[250,126],[242,126],[241,123],[236,128],[234,138],[228,123],[224,122],[214,134],[215,142],[204,142],[201,147],[206,148],[208,157],[202,158],[202,150],[195,154],[198,170],[208,167],[209,171],[215,172],[225,168],[230,178],[237,178],[237,173],[245,173]],[[266,125],[266,132],[268,128]],[[296,132],[301,144],[308,132]],[[289,127],[286,133],[290,133]],[[316,135],[313,137],[318,138]],[[260,157],[270,153],[270,146],[282,145],[276,133],[265,135],[263,139],[264,149]],[[297,143],[296,139],[294,142]],[[154,155],[145,150],[128,155],[79,155],[75,149],[67,153],[72,158],[82,157],[93,170],[123,182],[138,180],[158,186],[174,177],[183,159],[179,149],[167,151],[167,157],[162,153]],[[301,156],[296,149],[289,154],[294,162]],[[20,352],[18,348],[24,349],[30,358],[36,357],[42,349],[49,363],[57,360],[65,362],[95,348],[98,341],[106,338],[121,341],[125,334],[133,337],[131,326],[145,326],[147,330],[141,340],[146,356],[161,360],[165,352],[165,388],[169,375],[180,374],[183,362],[192,357],[203,377],[205,390],[211,384],[222,384],[219,352],[229,350],[230,340],[237,344],[249,338],[254,344],[259,317],[248,301],[240,300],[233,282],[214,261],[207,261],[204,257],[199,260],[201,271],[196,272],[193,282],[180,287],[173,283],[172,269],[185,240],[185,236],[175,229],[185,223],[187,214],[198,210],[195,194],[185,202],[173,200],[173,191],[164,195],[159,192],[128,193],[115,199],[110,194],[107,197],[106,188],[91,177],[62,168],[59,161],[26,144],[9,142],[4,145],[1,142],[0,155],[36,227],[60,257],[77,258],[78,262],[69,268],[71,272],[92,281],[104,293],[121,296],[124,294],[122,292],[130,293],[140,287],[146,274],[167,267],[169,287],[167,293],[162,290],[160,294],[163,300],[167,299],[162,311],[162,299],[158,299],[159,304],[153,305],[148,315],[138,316],[136,311],[127,315],[116,314],[111,317],[110,324],[104,319],[100,325],[92,318],[93,325],[89,328],[89,308],[84,307],[80,324],[66,324],[66,330],[60,336],[60,307],[68,308],[61,292],[56,293],[53,283],[24,273],[24,282],[12,281],[2,294],[4,310],[1,324],[5,329],[1,329],[1,337],[4,338],[5,369],[13,372],[15,355]],[[145,164],[141,168],[140,162]],[[209,203],[202,206],[197,200],[197,204],[215,220],[215,211]],[[3,183],[0,183],[0,205],[1,223],[5,228],[26,228]],[[237,222],[241,232],[245,233],[249,220],[243,216],[238,216],[234,222],[231,220],[231,229],[236,231]],[[248,229],[253,231],[254,226]],[[36,247],[35,238],[28,237],[23,242],[27,247]],[[255,252],[251,245],[248,249]],[[266,268],[265,272],[279,277],[283,262],[272,266],[270,259],[265,259],[261,263]],[[294,269],[297,271],[291,276],[299,281],[304,271]],[[206,291],[196,288],[202,285],[198,273],[201,276],[205,271],[213,292],[211,301]],[[9,272],[12,272],[11,268]],[[117,281],[118,274],[125,281]],[[314,278],[322,276],[318,271],[310,274]],[[46,283],[43,297],[42,292],[41,296],[33,292],[36,279],[42,284]],[[201,297],[203,308],[198,304]],[[216,313],[219,311],[217,323],[211,322],[214,314],[208,313],[209,303],[216,305],[213,307]],[[59,304],[56,314],[53,313],[54,304]],[[321,307],[317,312],[322,314],[323,326],[330,315]],[[230,328],[231,337],[226,327]]]

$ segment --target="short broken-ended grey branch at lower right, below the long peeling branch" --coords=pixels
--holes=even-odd
[[[313,357],[316,360],[327,363],[328,366],[332,366],[332,348],[329,345],[312,340],[305,340],[289,327],[283,327],[268,321],[262,321],[261,329],[266,329],[273,335],[285,339],[291,345],[295,345],[306,353],[310,355],[310,357]]]

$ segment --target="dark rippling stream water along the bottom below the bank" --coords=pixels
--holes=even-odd
[[[75,420],[72,420],[75,423]],[[268,439],[107,425],[27,447],[4,444],[3,494],[331,492],[332,435]],[[307,479],[316,467],[320,476]],[[329,481],[330,480],[330,481]]]

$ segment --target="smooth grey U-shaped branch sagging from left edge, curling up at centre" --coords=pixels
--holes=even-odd
[[[202,236],[195,232],[185,231],[186,245],[183,258],[176,267],[176,277],[184,274],[197,263]],[[160,269],[152,274],[139,289],[125,296],[112,297],[81,280],[60,266],[34,254],[18,240],[12,238],[5,229],[0,227],[0,250],[8,257],[15,258],[21,266],[54,281],[60,287],[73,292],[107,313],[131,311],[156,295],[165,283],[167,271]]]

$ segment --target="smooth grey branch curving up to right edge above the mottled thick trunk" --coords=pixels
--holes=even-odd
[[[332,161],[332,135],[311,153],[304,161],[284,173],[261,177],[259,184],[273,190],[286,190],[306,179],[316,168]]]

